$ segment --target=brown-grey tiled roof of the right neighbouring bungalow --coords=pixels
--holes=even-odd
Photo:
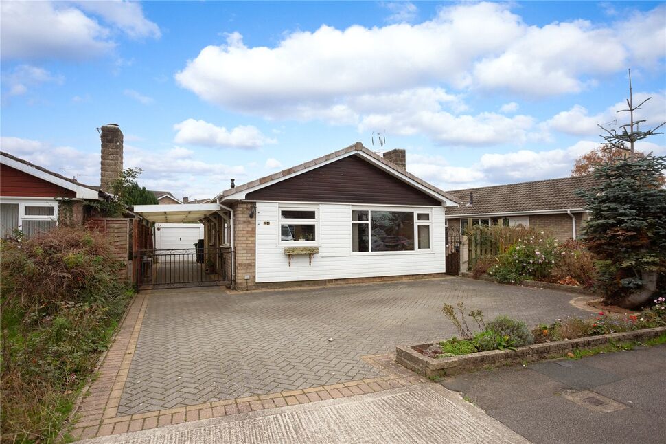
[[[585,202],[576,195],[576,190],[589,190],[597,184],[597,179],[588,175],[453,190],[449,193],[463,203],[446,210],[446,216],[582,209]],[[470,192],[474,197],[472,205],[469,205]]]

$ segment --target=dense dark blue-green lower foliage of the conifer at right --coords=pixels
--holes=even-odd
[[[595,254],[597,289],[608,304],[632,305],[643,272],[666,272],[666,157],[629,157],[597,167],[599,185],[582,192],[590,210],[584,241]]]

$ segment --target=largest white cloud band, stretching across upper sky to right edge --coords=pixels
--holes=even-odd
[[[659,7],[626,24],[538,27],[523,23],[506,4],[463,3],[415,25],[292,32],[275,47],[248,47],[238,32],[228,34],[226,45],[202,49],[176,80],[208,102],[271,117],[299,106],[328,108],[363,94],[433,85],[531,96],[571,93],[636,57],[643,64],[661,60],[663,52],[643,56],[621,32],[646,23],[650,32],[641,41],[660,47],[663,22]]]

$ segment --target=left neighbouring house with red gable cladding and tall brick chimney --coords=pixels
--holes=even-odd
[[[84,185],[9,153],[0,153],[0,236],[15,230],[31,236],[58,224],[87,225],[104,232],[116,257],[126,264],[119,276],[129,279],[133,242],[152,246],[150,223],[129,209],[107,217],[102,201],[113,199],[111,184],[123,170],[123,134],[116,124],[100,129],[100,186]]]

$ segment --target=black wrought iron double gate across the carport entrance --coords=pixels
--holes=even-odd
[[[140,249],[139,288],[198,287],[233,283],[231,249]]]

